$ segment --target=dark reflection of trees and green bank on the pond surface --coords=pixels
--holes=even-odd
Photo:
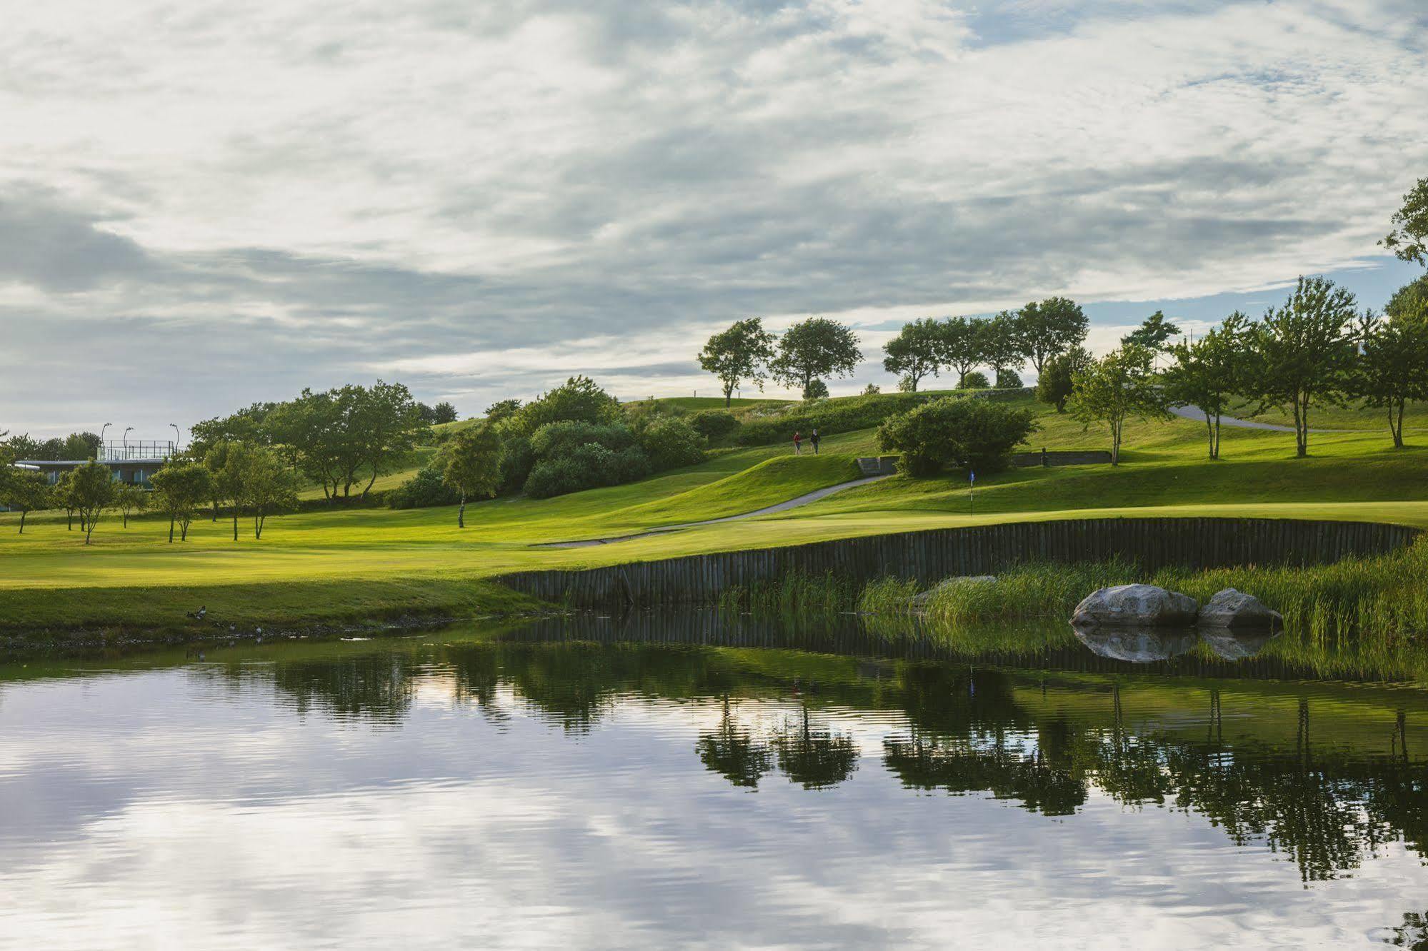
[[[544,625],[428,644],[294,645],[263,665],[194,675],[264,680],[294,710],[378,725],[401,723],[427,681],[487,717],[523,705],[571,734],[627,703],[718,704],[694,754],[744,791],[775,768],[810,791],[848,781],[860,761],[851,727],[865,723],[883,734],[887,773],[910,790],[985,794],[1048,817],[1074,815],[1092,791],[1125,807],[1195,812],[1237,844],[1285,855],[1305,882],[1349,874],[1389,842],[1428,854],[1428,774],[1409,743],[1428,718],[1417,691],[1361,688],[1349,703],[1342,688],[1307,681],[1174,680],[1130,665],[1021,670],[924,654],[868,663],[878,641],[851,634],[838,637],[854,655],[761,650],[773,645],[767,631],[754,648],[738,643],[747,631],[690,631],[700,643],[668,643],[667,633],[665,643],[621,640],[628,630],[607,643],[570,640]],[[817,698],[800,694],[791,710],[794,685],[813,678]],[[1365,733],[1365,697],[1404,707],[1372,707],[1382,731]]]

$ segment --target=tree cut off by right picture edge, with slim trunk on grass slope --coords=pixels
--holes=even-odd
[[[1395,293],[1385,318],[1365,314],[1359,340],[1354,391],[1365,404],[1388,411],[1394,447],[1402,448],[1405,406],[1428,400],[1428,277]]]

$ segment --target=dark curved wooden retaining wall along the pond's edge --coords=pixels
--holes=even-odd
[[[577,571],[518,571],[493,578],[517,591],[574,605],[713,601],[737,585],[788,573],[828,571],[863,583],[880,577],[940,581],[995,574],[1024,561],[1121,557],[1147,571],[1167,565],[1325,564],[1408,544],[1417,528],[1281,518],[1075,518],[840,538],[783,548],[720,551]]]

